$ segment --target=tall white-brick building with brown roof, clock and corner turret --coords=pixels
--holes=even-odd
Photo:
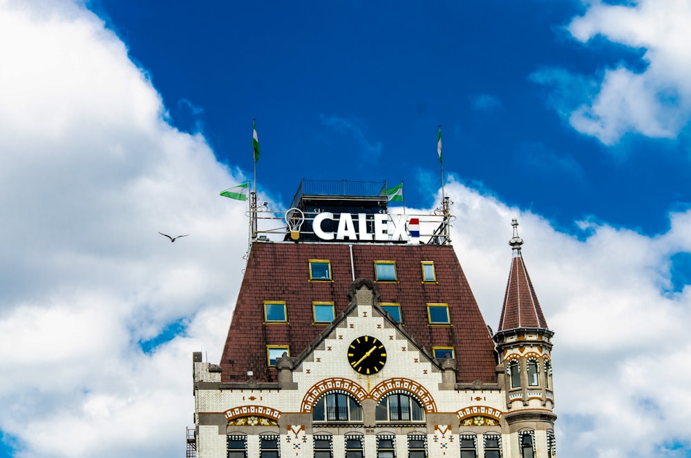
[[[252,205],[220,363],[193,354],[198,457],[556,456],[553,333],[518,222],[493,335],[448,199],[439,216],[387,201],[386,183],[303,181],[278,240]]]

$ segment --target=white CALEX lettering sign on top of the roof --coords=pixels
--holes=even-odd
[[[359,213],[357,214],[357,227],[355,230],[355,224],[353,222],[353,215],[350,213],[339,214],[339,228],[334,232],[325,232],[321,228],[321,223],[325,219],[330,219],[334,221],[334,214],[332,212],[322,212],[314,217],[314,222],[312,223],[312,229],[316,237],[322,240],[374,240],[374,241],[408,241],[410,240],[410,235],[408,235],[408,230],[406,230],[406,224],[408,223],[407,214],[388,214],[388,213],[375,213],[372,215],[374,217],[374,232],[367,232],[368,214]],[[372,221],[370,219],[369,221]],[[388,231],[389,223],[392,223],[392,232]]]

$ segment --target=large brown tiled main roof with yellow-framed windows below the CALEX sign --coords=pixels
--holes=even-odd
[[[329,259],[333,281],[310,282],[308,259]],[[324,329],[312,324],[312,302],[334,302],[340,313],[354,278],[374,280],[375,260],[396,262],[398,282],[377,283],[380,302],[401,304],[410,336],[428,350],[453,347],[459,383],[495,383],[494,344],[453,247],[291,242],[252,246],[220,360],[221,381],[245,381],[248,371],[255,381],[276,381],[266,346],[290,345],[290,356],[298,356]],[[422,261],[434,262],[437,283],[422,282]],[[265,300],[285,301],[288,324],[263,324]],[[452,326],[428,325],[426,304],[433,302],[448,304]]]

